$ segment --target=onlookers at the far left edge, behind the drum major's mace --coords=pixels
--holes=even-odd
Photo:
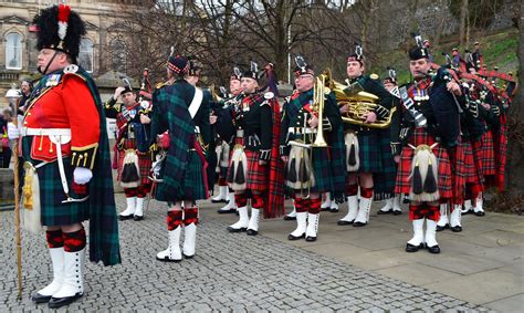
[[[20,83],[21,97],[18,101],[18,112],[14,114],[14,107],[11,105],[0,112],[0,168],[9,168],[12,156],[12,140],[8,136],[9,127],[14,127],[14,118],[22,115],[25,109],[25,103],[32,91],[31,81],[22,81]]]

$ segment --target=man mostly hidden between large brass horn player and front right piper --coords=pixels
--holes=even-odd
[[[395,69],[388,69],[388,76],[384,79],[384,87],[390,92],[394,95],[394,105],[392,107],[396,107],[395,114],[400,114],[401,112],[401,106],[399,102],[399,94],[398,94],[398,85],[397,85],[397,73]],[[395,128],[389,127],[387,132],[390,132],[390,138],[391,136],[395,137]],[[380,137],[381,145],[391,145],[391,139],[387,138],[386,136]],[[392,143],[395,146],[398,143]],[[386,149],[386,147],[385,147]],[[391,157],[386,157],[384,158],[384,164],[385,164],[385,170],[380,174],[377,175],[377,180],[382,180],[385,181],[384,185],[386,185],[387,190],[394,190],[395,189],[395,179],[397,178],[397,167],[398,167],[398,159]],[[401,194],[395,194],[391,195],[392,197],[387,197],[386,198],[386,205],[381,207],[378,210],[378,215],[388,215],[392,213],[395,216],[401,215],[402,209],[400,207],[400,199],[401,199]]]

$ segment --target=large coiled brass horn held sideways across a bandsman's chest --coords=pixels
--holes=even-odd
[[[358,83],[353,85],[346,85],[335,80],[332,80],[329,70],[324,72],[324,74],[329,77],[326,84],[335,94],[338,106],[342,107],[346,104],[349,106],[348,112],[342,116],[342,119],[345,123],[366,126],[370,128],[389,127],[392,115],[397,109],[396,107],[389,109],[389,114],[386,118],[380,118],[379,116],[377,116],[377,121],[375,121],[374,123],[366,123],[365,115],[369,112],[374,112],[375,108],[377,108],[377,105],[379,105],[380,100],[378,98],[378,96],[365,92]]]

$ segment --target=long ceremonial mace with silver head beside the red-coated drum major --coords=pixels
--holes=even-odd
[[[20,91],[13,84],[6,93],[6,97],[13,108],[13,124],[18,127],[18,100],[21,97]],[[18,265],[18,295],[17,299],[22,299],[22,237],[20,233],[20,181],[19,181],[19,163],[18,163],[18,142],[14,139],[13,153],[14,156],[14,232],[17,241],[17,265]]]

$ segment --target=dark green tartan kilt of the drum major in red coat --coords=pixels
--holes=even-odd
[[[63,163],[70,196],[74,199],[85,197],[75,195],[72,188],[74,168],[71,166],[71,158],[63,158]],[[33,163],[33,165],[36,164],[39,161]],[[90,219],[90,200],[62,204],[66,196],[61,184],[57,161],[38,168],[36,173],[40,182],[41,222],[43,226],[63,226]]]

